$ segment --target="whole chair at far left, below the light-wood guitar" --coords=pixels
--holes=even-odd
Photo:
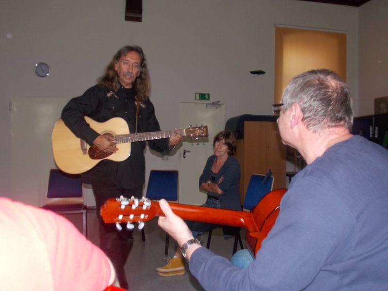
[[[61,215],[81,213],[82,232],[87,235],[87,208],[83,200],[81,175],[51,169],[46,204],[42,208]]]

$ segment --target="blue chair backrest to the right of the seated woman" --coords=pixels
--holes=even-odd
[[[256,206],[265,194],[272,191],[274,185],[274,177],[265,175],[252,174],[248,188],[246,189],[244,208],[251,210]],[[263,181],[265,182],[263,183]]]

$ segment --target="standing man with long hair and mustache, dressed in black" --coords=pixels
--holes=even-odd
[[[97,122],[121,117],[126,120],[132,133],[160,131],[154,106],[148,97],[149,91],[150,81],[143,49],[125,46],[115,53],[97,85],[67,103],[62,111],[62,119],[77,137],[105,153],[114,154],[117,150],[114,137],[100,135],[89,126],[84,116]],[[181,139],[176,134],[170,138],[150,140],[148,146],[162,152],[173,149]],[[98,216],[98,210],[108,198],[142,196],[145,147],[146,142],[131,143],[131,154],[127,160],[104,160],[85,175],[92,184]],[[100,247],[112,260],[120,286],[128,289],[124,265],[132,247],[132,233],[117,232],[114,225],[105,225],[99,218]]]

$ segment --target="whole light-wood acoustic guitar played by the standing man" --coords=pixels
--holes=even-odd
[[[99,150],[97,146],[89,146],[84,140],[76,137],[65,125],[63,120],[59,119],[52,129],[52,152],[58,168],[69,174],[86,172],[105,159],[115,162],[126,160],[130,155],[130,143],[132,142],[169,138],[177,133],[191,139],[205,138],[208,136],[207,126],[129,133],[128,124],[121,117],[113,117],[106,122],[97,122],[85,116],[85,120],[99,134],[113,136],[116,147],[119,150],[114,154],[105,153]]]

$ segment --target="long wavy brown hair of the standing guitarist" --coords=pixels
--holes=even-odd
[[[136,98],[139,101],[144,101],[149,95],[151,89],[151,82],[149,80],[146,56],[144,55],[143,49],[138,46],[125,46],[119,49],[114,54],[111,62],[107,66],[105,74],[101,78],[99,78],[98,85],[100,85],[101,87],[108,88],[109,90],[112,90],[113,92],[117,93],[121,84],[119,76],[116,70],[114,69],[114,65],[118,63],[121,57],[126,56],[131,51],[136,51],[140,54],[141,57],[140,74],[133,82],[133,86],[135,89]]]

